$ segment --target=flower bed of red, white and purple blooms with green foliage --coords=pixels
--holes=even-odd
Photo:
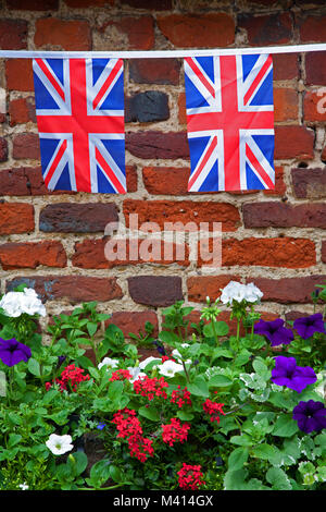
[[[323,314],[263,321],[261,296],[231,282],[198,324],[178,302],[156,340],[147,325],[133,342],[86,303],[54,317],[45,344],[34,290],[5,294],[0,489],[325,489]]]

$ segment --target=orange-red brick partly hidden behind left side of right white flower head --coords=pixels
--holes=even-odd
[[[215,301],[221,295],[221,289],[225,288],[230,281],[240,281],[239,276],[195,276],[188,278],[188,301],[206,302],[206,296]]]

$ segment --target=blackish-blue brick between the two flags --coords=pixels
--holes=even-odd
[[[126,98],[125,122],[150,123],[170,118],[168,97],[159,90],[147,90]]]

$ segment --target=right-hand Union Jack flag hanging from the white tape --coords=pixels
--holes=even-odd
[[[268,54],[186,58],[189,192],[274,188]]]

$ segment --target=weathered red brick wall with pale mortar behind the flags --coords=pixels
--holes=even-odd
[[[0,0],[0,7],[1,49],[326,41],[323,0]],[[274,57],[275,191],[189,194],[181,61],[125,61],[128,193],[115,196],[47,191],[30,61],[2,60],[1,292],[27,282],[47,302],[49,316],[97,300],[125,332],[146,320],[158,327],[162,308],[176,300],[199,308],[230,279],[261,288],[265,318],[310,313],[314,284],[326,278],[326,99],[318,96],[326,87],[325,63],[325,52]],[[203,275],[188,254],[183,260],[108,261],[105,224],[127,224],[133,212],[159,224],[222,222],[222,268]]]

